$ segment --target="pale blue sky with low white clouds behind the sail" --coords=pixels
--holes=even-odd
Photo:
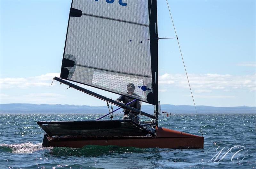
[[[168,3],[196,105],[256,106],[256,1]],[[70,4],[0,1],[0,103],[106,104],[57,81],[50,86],[60,75]],[[158,36],[175,37],[166,1],[157,5]],[[193,105],[177,40],[159,40],[158,49],[159,100]]]

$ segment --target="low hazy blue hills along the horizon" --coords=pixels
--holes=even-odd
[[[113,106],[113,110],[117,107]],[[152,105],[142,105],[142,111],[153,114]],[[196,106],[197,113],[255,113],[256,107],[212,107],[212,106]],[[121,110],[120,110],[121,111]],[[120,112],[118,111],[118,112]],[[161,111],[171,113],[195,113],[194,106],[187,105],[161,105]],[[0,113],[107,113],[107,106],[76,106],[62,104],[25,104],[12,103],[0,104]]]

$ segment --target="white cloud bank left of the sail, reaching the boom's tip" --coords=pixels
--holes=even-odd
[[[60,73],[48,73],[41,76],[27,77],[27,78],[1,78],[0,88],[29,88],[50,86],[52,79],[55,76],[60,76]]]

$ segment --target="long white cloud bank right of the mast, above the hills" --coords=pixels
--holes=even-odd
[[[230,74],[188,74],[192,89],[200,92],[210,92],[213,89],[230,90],[244,88],[250,91],[256,90],[256,74],[234,76]],[[188,88],[186,75],[164,74],[159,76],[159,84],[174,85],[179,88]]]

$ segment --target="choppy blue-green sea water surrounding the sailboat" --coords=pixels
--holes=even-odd
[[[173,130],[201,135],[201,126],[204,149],[42,147],[44,131],[37,121],[95,120],[100,116],[0,114],[0,168],[256,168],[256,114],[159,116],[159,126]],[[118,118],[121,116],[114,117]]]

